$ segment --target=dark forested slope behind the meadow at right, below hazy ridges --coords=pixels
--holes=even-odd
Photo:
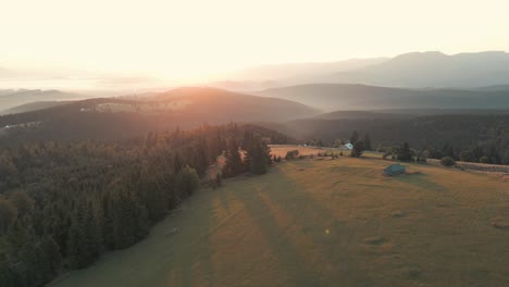
[[[492,112],[408,118],[405,118],[405,114],[390,118],[389,114],[377,117],[368,113],[364,118],[307,118],[264,125],[301,142],[320,140],[324,145],[334,145],[337,140],[348,141],[352,132],[358,130],[361,135],[371,136],[373,148],[400,146],[408,141],[412,148],[429,150],[438,159],[447,154],[460,160],[462,152],[473,152],[475,157],[469,155],[464,160],[509,164],[509,115]],[[337,116],[342,116],[342,113]],[[481,160],[482,157],[486,158]]]

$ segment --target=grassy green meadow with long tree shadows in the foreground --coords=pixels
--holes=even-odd
[[[509,184],[376,159],[300,160],[202,189],[79,286],[507,286]],[[176,228],[176,229],[175,229]]]

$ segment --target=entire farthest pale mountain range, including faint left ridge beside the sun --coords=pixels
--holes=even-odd
[[[509,53],[487,51],[447,55],[412,52],[395,58],[353,59],[331,63],[275,64],[246,68],[211,86],[252,90],[252,83],[272,88],[303,84],[362,84],[405,88],[476,88],[509,85]],[[241,85],[250,83],[251,85]],[[258,85],[259,89],[271,88]]]

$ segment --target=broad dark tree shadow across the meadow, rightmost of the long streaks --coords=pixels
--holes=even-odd
[[[295,183],[282,170],[275,171],[280,178],[277,185],[264,196],[278,207],[281,212],[291,216],[295,225],[301,228],[299,236],[308,238],[312,248],[322,258],[315,266],[321,270],[325,285],[337,286],[376,286],[367,270],[358,264],[347,249],[347,241],[351,228],[347,228],[322,203]]]

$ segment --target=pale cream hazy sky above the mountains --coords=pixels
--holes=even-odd
[[[199,77],[409,51],[509,51],[507,0],[0,0],[0,66]]]

